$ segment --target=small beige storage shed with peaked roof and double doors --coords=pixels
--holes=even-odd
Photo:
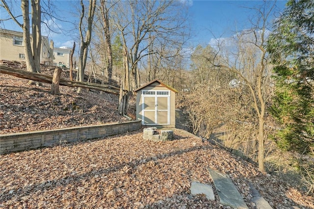
[[[142,120],[142,125],[176,126],[177,90],[155,79],[134,91],[137,93],[136,118]]]

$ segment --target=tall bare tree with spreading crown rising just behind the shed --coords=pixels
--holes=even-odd
[[[157,42],[184,42],[183,4],[176,1],[121,1],[116,5],[115,25],[121,33],[130,64],[130,90],[140,84],[139,62],[153,52]],[[153,38],[154,37],[154,38]],[[180,41],[178,41],[180,40]],[[180,45],[180,44],[179,44]]]

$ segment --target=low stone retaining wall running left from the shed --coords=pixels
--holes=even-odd
[[[106,125],[72,127],[48,131],[31,131],[0,134],[0,154],[60,145],[68,142],[84,141],[94,138],[135,131],[141,128],[141,121],[114,123]]]

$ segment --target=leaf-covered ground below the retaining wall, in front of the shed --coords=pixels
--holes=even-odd
[[[208,168],[228,174],[250,209],[251,182],[273,208],[313,208],[313,197],[254,164],[184,131],[176,140],[152,142],[142,130],[101,140],[0,156],[3,208],[212,208],[190,196],[192,180],[211,184]]]

